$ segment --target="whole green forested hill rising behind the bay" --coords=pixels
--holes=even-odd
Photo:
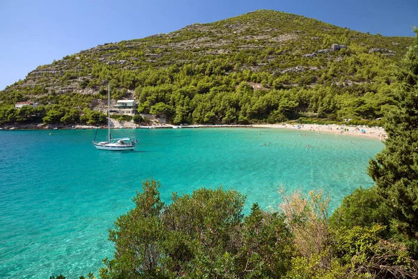
[[[393,67],[413,42],[257,10],[39,66],[0,91],[0,124],[97,123],[108,82],[173,123],[373,120],[396,105]],[[14,109],[25,100],[40,106]]]

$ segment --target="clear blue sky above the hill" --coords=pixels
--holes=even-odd
[[[414,36],[411,26],[418,26],[418,0],[0,0],[0,90],[39,65],[96,45],[260,9],[383,36]]]

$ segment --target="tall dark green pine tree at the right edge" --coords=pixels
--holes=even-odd
[[[417,43],[401,61],[398,107],[387,113],[385,149],[369,161],[378,195],[394,209],[401,232],[418,237],[418,29]]]

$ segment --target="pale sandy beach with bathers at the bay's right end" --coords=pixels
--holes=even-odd
[[[281,128],[295,130],[311,130],[318,133],[334,133],[340,135],[357,135],[359,137],[371,137],[377,140],[385,140],[387,135],[382,127],[367,128],[362,126],[344,125],[318,125],[318,124],[260,124],[252,125],[254,128]],[[345,130],[344,130],[345,129]],[[365,133],[362,133],[362,130]]]

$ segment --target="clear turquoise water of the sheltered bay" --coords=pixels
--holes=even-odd
[[[372,185],[367,161],[383,147],[286,129],[125,129],[112,135],[136,136],[139,147],[118,153],[96,150],[94,130],[50,132],[0,131],[0,278],[97,271],[112,256],[108,229],[132,208],[144,179],[161,182],[164,201],[173,191],[223,185],[247,195],[247,211],[252,202],[274,209],[284,184],[287,191],[323,188],[336,206]]]

